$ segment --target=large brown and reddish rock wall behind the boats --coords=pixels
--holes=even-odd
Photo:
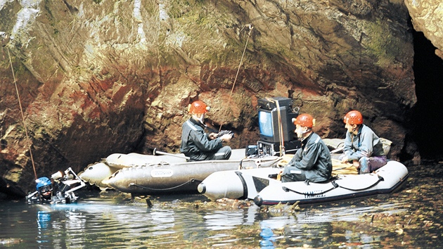
[[[34,190],[31,151],[37,177],[178,152],[196,99],[233,148],[259,139],[257,100],[285,96],[323,137],[357,109],[392,158],[416,156],[408,18],[400,0],[0,1],[0,192]]]

